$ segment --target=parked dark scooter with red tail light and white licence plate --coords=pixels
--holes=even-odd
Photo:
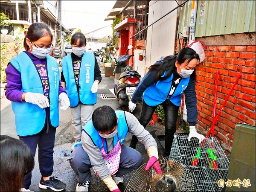
[[[131,66],[127,64],[127,61],[134,55],[127,55],[128,50],[132,49],[132,45],[128,45],[125,55],[119,56],[117,59],[110,55],[111,59],[115,59],[114,66],[114,93],[116,99],[119,100],[119,107],[128,107],[129,101],[132,98],[132,94],[136,90],[140,83],[141,75],[132,70]]]

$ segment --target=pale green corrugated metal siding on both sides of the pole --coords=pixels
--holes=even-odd
[[[190,26],[191,6],[189,1],[181,8],[178,33]],[[198,0],[195,37],[255,32],[255,7],[255,0]]]

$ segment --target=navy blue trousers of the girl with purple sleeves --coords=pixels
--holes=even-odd
[[[55,142],[56,128],[49,126],[49,133],[46,132],[47,127],[44,126],[43,130],[39,134],[20,137],[20,140],[29,146],[34,157],[38,145],[39,170],[43,177],[49,177],[53,172],[53,147]],[[32,173],[26,175],[23,180],[23,188],[29,189],[31,184],[31,177]]]

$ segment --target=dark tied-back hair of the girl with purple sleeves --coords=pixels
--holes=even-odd
[[[51,39],[53,39],[51,29],[49,26],[45,23],[32,23],[28,31],[26,32],[26,36],[23,41],[24,48],[28,51],[29,46],[26,43],[26,38],[28,38],[30,41],[37,41],[38,39],[45,37],[47,35],[51,36]]]

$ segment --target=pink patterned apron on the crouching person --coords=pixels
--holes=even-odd
[[[115,174],[119,169],[120,156],[122,152],[122,145],[119,142],[118,134],[117,134],[117,140],[118,141],[115,147],[111,151],[109,151],[109,153],[107,154],[104,149],[104,141],[102,138],[103,146],[100,149],[100,151],[102,152],[103,159],[105,160],[105,164],[108,167],[108,170],[110,171],[111,175]],[[95,170],[94,172],[96,173],[96,175],[98,175]]]

